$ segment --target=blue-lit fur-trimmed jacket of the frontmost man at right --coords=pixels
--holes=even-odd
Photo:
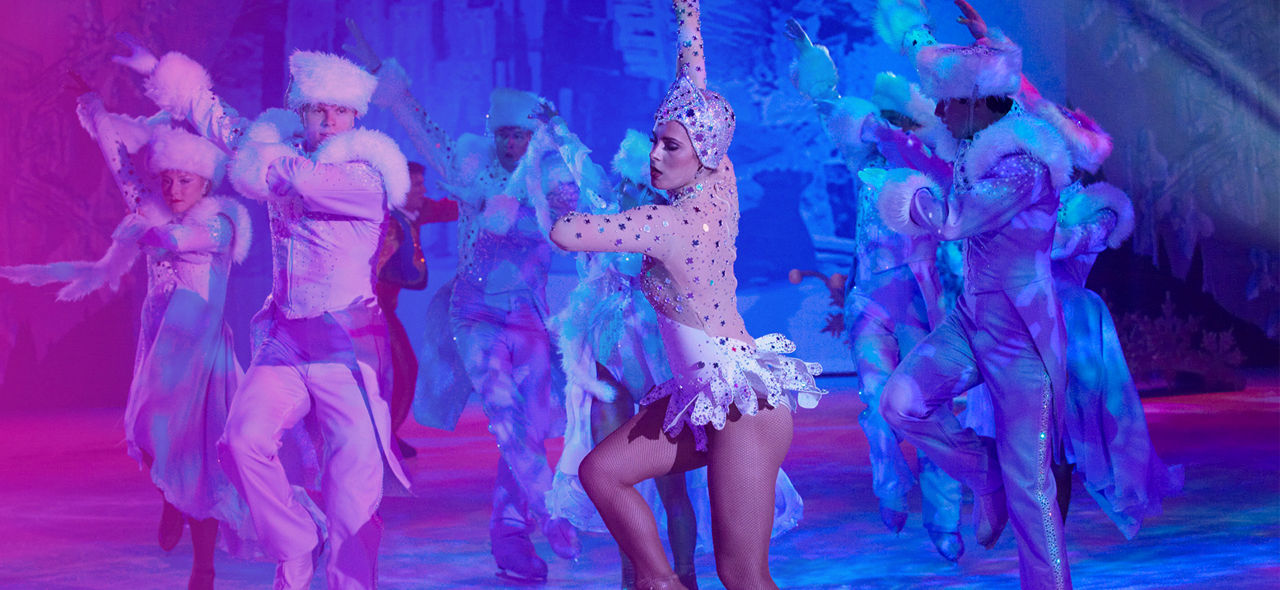
[[[1059,191],[1071,174],[1068,147],[1050,124],[1015,111],[961,145],[954,171],[951,187],[943,189],[914,170],[891,170],[881,188],[881,216],[897,232],[965,239],[964,293],[956,311],[972,315],[983,329],[988,323],[1021,324],[1036,340],[1052,388],[1061,392],[1065,330],[1050,252]],[[1020,317],[987,317],[987,297],[1006,298]]]

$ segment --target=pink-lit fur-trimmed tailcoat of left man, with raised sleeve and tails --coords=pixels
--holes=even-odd
[[[387,320],[374,296],[387,211],[403,205],[410,188],[404,155],[389,137],[367,129],[339,133],[306,152],[296,113],[269,109],[252,123],[241,118],[212,92],[204,68],[180,54],[160,58],[146,90],[173,118],[187,120],[233,154],[232,186],[268,203],[271,296],[253,317],[253,347],[282,316],[340,326],[355,353],[349,367],[369,404],[383,457],[408,488],[379,393],[390,390],[392,371]],[[358,363],[374,369],[376,384],[365,383]]]

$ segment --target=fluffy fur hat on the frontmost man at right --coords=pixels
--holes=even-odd
[[[932,99],[1009,96],[1023,77],[1023,50],[992,35],[973,45],[931,45],[915,54],[920,88]]]

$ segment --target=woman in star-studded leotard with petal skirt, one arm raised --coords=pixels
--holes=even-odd
[[[737,312],[737,182],[724,157],[733,110],[705,90],[696,0],[675,0],[680,76],[655,114],[650,174],[671,205],[562,218],[552,241],[573,251],[641,252],[641,288],[675,378],[582,461],[582,485],[641,589],[681,589],[636,482],[705,465],[716,564],[727,587],[777,587],[768,570],[774,482],[795,408],[824,393],[817,365],[781,356],[778,334],[748,335]],[[760,401],[765,403],[760,403]],[[712,429],[705,426],[710,424]],[[687,427],[686,427],[687,426]]]

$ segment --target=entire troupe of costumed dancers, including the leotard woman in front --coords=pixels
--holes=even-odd
[[[956,4],[972,45],[938,44],[915,0],[881,1],[877,33],[914,60],[919,86],[882,73],[870,100],[840,96],[826,47],[795,20],[791,78],[858,178],[845,316],[884,525],[906,521],[905,439],[942,557],[964,553],[968,488],[979,544],[1011,522],[1023,586],[1070,587],[1073,467],[1129,538],[1181,485],[1151,449],[1110,314],[1084,288],[1133,210],[1091,182],[1106,133],[1042,97],[1019,47]],[[791,413],[826,392],[820,367],[787,356],[781,334],[753,338],[737,311],[733,109],[707,88],[698,0],[672,5],[677,79],[649,141],[623,140],[612,177],[548,101],[518,90],[493,91],[485,134],[451,137],[358,31],[355,61],[294,52],[287,109],[253,119],[200,64],[127,40],[115,60],[160,111],[113,114],[88,92],[77,114],[129,214],[97,261],[0,276],[67,283],[59,298],[76,299],[114,288],[145,255],[125,435],[164,499],[161,546],[189,525],[189,587],[212,586],[218,539],[274,561],[278,589],[308,587],[321,554],[329,587],[374,587],[384,471],[408,488],[401,458],[416,453],[396,430],[411,404],[451,429],[471,393],[500,449],[489,535],[502,575],[545,580],[535,530],[573,558],[579,530],[607,529],[625,587],[694,589],[701,530],[726,587],[777,587],[769,539],[800,506],[781,471]],[[426,198],[425,168],[356,125],[371,104],[394,114],[452,200]],[[212,195],[224,173],[270,219],[273,287],[244,371],[224,308],[252,230],[236,198]],[[430,333],[447,337],[415,355],[397,296],[426,282],[419,227],[452,220],[457,275],[428,310]],[[594,252],[579,256],[563,310],[545,294],[557,247]],[[553,468],[544,440],[561,416]]]

